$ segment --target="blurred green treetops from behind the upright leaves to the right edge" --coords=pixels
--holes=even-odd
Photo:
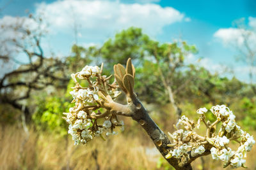
[[[136,27],[118,32],[100,48],[73,46],[72,51],[86,52],[88,59],[104,61],[105,74],[112,73],[113,64],[125,64],[131,57],[136,67],[134,88],[140,99],[147,103],[163,106],[170,102],[163,79],[172,87],[177,103],[191,103],[195,108],[205,104],[230,105],[239,100],[237,96],[241,96],[240,99],[242,96],[252,97],[248,85],[236,78],[223,78],[196,64],[186,65],[184,61],[188,54],[197,52],[195,45],[185,41],[159,43]],[[75,55],[77,60],[72,62],[81,63],[78,62],[81,59],[79,53]],[[82,63],[84,66],[83,60]]]

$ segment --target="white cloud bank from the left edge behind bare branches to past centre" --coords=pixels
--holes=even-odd
[[[52,52],[68,55],[70,53],[70,46],[73,45],[75,39],[74,24],[76,24],[77,29],[77,42],[80,45],[88,46],[100,45],[107,38],[113,37],[117,31],[131,26],[141,27],[143,32],[150,36],[156,36],[161,34],[164,26],[184,21],[184,14],[174,8],[162,8],[158,4],[148,3],[125,4],[120,1],[111,0],[64,0],[49,4],[36,4],[33,15],[35,17],[42,17],[44,19],[43,22],[49,24],[47,31],[49,31],[50,36],[45,36],[41,42],[45,55],[49,55]],[[6,28],[17,24],[24,29],[33,31],[46,29],[45,24],[41,25],[40,29],[38,29],[38,25],[28,17],[4,16],[0,18],[1,24],[5,25]],[[22,33],[8,28],[1,28],[0,34],[0,42],[3,39],[15,38],[26,41],[28,45],[28,41],[31,40],[22,39]],[[19,52],[15,45],[7,43],[5,43],[5,46],[0,46],[0,51],[6,53]]]

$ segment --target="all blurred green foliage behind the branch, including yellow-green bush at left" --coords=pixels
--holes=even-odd
[[[212,74],[205,67],[196,64],[186,64],[188,54],[197,52],[195,45],[188,45],[185,41],[160,43],[144,34],[140,28],[131,27],[116,33],[114,38],[108,39],[100,47],[84,48],[73,45],[71,50],[72,54],[65,58],[69,74],[76,73],[92,63],[99,66],[101,62],[104,62],[104,74],[110,74],[113,73],[114,64],[125,64],[131,57],[136,67],[134,89],[141,101],[159,104],[161,107],[170,103],[163,83],[164,78],[172,87],[175,101],[179,103],[185,115],[192,116],[196,109],[203,106],[227,104],[232,106],[232,110],[241,112],[237,118],[243,125],[256,129],[255,100],[250,85],[235,77],[228,79]],[[24,78],[29,80],[29,75]],[[12,82],[14,79],[8,81]],[[81,82],[81,85],[86,85],[84,83],[86,81]],[[68,104],[72,101],[70,87],[74,87],[72,81],[68,83],[67,89],[58,89],[53,94],[36,92],[32,95],[38,96],[29,99],[31,110],[36,105],[33,122],[37,128],[49,131],[62,131],[61,129],[67,128],[61,117],[62,113],[67,111],[64,108],[69,108]],[[10,88],[10,92],[12,91]],[[12,95],[17,94],[13,92]],[[16,110],[6,107],[8,106],[0,106],[2,122],[20,120]],[[162,114],[161,117],[165,116]],[[211,114],[207,118],[214,119]]]

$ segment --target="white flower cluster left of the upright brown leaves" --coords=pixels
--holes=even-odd
[[[106,96],[114,100],[120,92],[115,81],[109,83],[111,76],[101,76],[102,67],[85,66],[82,71],[71,74],[76,83],[70,92],[75,106],[70,108],[68,113],[63,114],[66,115],[64,118],[69,124],[68,134],[72,136],[75,145],[86,144],[95,136],[104,139],[103,134],[106,136],[117,134],[113,131],[116,126],[124,129],[124,122],[119,121],[104,104]],[[77,78],[79,81],[87,81],[88,85],[82,87]]]

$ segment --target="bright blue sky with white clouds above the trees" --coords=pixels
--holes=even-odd
[[[116,32],[129,26],[138,26],[161,42],[182,38],[196,45],[199,53],[190,56],[189,62],[203,57],[200,64],[210,71],[220,71],[222,66],[227,66],[234,69],[240,80],[248,80],[246,65],[236,62],[236,48],[230,47],[229,43],[241,36],[240,30],[232,25],[234,20],[245,18],[250,29],[256,31],[256,1],[253,0],[1,0],[0,8],[0,22],[8,15],[26,17],[25,10],[35,15],[41,11],[47,13],[45,18],[51,27],[50,36],[44,42],[45,48],[50,46],[58,55],[70,52],[70,46],[74,43],[74,20],[78,25],[78,43],[84,46],[100,45]],[[256,43],[254,37],[252,41]]]

